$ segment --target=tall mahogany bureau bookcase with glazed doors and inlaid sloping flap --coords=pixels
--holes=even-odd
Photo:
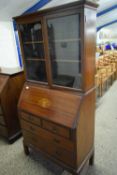
[[[27,77],[18,103],[24,151],[73,174],[94,159],[96,9],[80,0],[14,18]]]

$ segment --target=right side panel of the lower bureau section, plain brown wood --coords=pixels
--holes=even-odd
[[[86,159],[94,147],[95,90],[84,97],[77,127],[77,165]]]

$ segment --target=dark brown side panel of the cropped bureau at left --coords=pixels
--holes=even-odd
[[[20,73],[11,76],[1,93],[1,103],[4,111],[4,118],[8,130],[8,137],[12,137],[20,130],[17,103],[24,83],[24,74]]]

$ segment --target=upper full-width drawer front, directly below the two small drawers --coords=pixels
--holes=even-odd
[[[68,139],[65,139],[61,136],[55,135],[51,132],[46,131],[45,129],[42,129],[38,126],[34,126],[31,123],[28,123],[26,121],[21,121],[21,126],[23,130],[28,131],[32,134],[34,134],[34,137],[36,140],[39,140],[42,138],[43,140],[47,141],[48,143],[52,143],[56,146],[63,147],[67,150],[74,150],[74,144]],[[24,131],[23,131],[24,132]]]

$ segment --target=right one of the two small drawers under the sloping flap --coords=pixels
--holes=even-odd
[[[62,126],[59,126],[57,124],[54,124],[54,123],[51,123],[51,122],[48,122],[45,120],[42,121],[42,126],[43,126],[43,128],[45,128],[45,129],[47,129],[55,134],[64,136],[66,138],[70,138],[70,131],[67,128],[64,128]]]

